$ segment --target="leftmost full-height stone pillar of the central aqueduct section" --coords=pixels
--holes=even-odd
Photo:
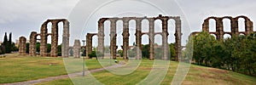
[[[104,19],[98,21],[98,49],[97,51],[104,54]],[[104,55],[103,55],[104,56]]]

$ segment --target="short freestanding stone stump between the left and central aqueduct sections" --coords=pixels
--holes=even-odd
[[[80,58],[81,43],[79,40],[75,40],[73,44],[73,57]]]

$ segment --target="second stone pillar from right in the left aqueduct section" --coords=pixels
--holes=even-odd
[[[53,20],[51,26],[51,57],[58,57],[58,21]]]

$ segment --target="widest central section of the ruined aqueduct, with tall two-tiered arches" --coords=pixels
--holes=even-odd
[[[104,29],[104,22],[109,20],[111,22],[110,29]],[[142,36],[143,34],[147,34],[149,37],[149,59],[154,59],[154,35],[160,34],[162,36],[162,48],[163,48],[163,57],[162,59],[168,59],[169,54],[169,46],[167,43],[168,33],[168,20],[175,20],[175,40],[176,40],[176,59],[178,56],[181,56],[181,20],[179,16],[162,16],[161,14],[157,17],[147,18],[147,17],[123,17],[123,18],[102,18],[98,20],[98,33],[88,33],[86,36],[86,54],[90,54],[92,52],[92,37],[98,36],[98,47],[97,51],[100,53],[104,53],[104,34],[105,30],[110,30],[110,54],[113,59],[116,59],[116,23],[118,20],[123,21],[123,59],[127,59],[127,51],[129,49],[129,21],[136,21],[136,47],[137,47],[137,55],[136,59],[141,59],[142,54],[140,52],[142,48]],[[142,20],[148,20],[149,22],[149,32],[142,32]],[[154,20],[162,21],[162,32],[154,32]]]

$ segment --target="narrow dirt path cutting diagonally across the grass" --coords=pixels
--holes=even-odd
[[[122,64],[113,65],[113,66],[106,67],[106,69],[113,69],[113,68],[118,68],[121,66],[122,66]],[[91,71],[84,71],[84,75],[87,75],[91,72],[104,71],[104,70],[105,70],[104,68],[101,68],[101,69],[96,69],[96,70],[91,70]],[[61,75],[61,76],[56,76],[56,77],[45,77],[45,78],[26,81],[26,82],[3,83],[0,85],[31,85],[31,84],[36,84],[36,83],[40,83],[40,82],[50,82],[50,81],[54,81],[54,80],[65,79],[68,77],[79,77],[79,76],[82,76],[82,74],[83,74],[83,72],[77,72],[77,73],[71,73],[69,75]]]

